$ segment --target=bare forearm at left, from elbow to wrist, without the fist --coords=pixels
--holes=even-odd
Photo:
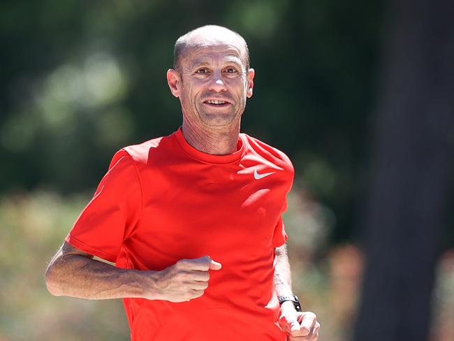
[[[89,299],[157,296],[157,291],[153,291],[156,271],[117,268],[91,256],[64,254],[62,250],[50,262],[45,281],[47,289],[56,296]]]

